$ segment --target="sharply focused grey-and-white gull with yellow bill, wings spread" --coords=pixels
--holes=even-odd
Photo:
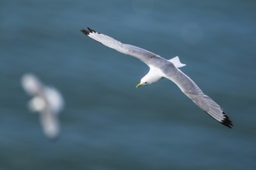
[[[187,97],[189,97],[189,99],[209,114],[209,116],[213,117],[213,119],[228,128],[232,128],[232,121],[230,121],[230,118],[223,112],[219,104],[216,104],[216,102],[210,97],[202,93],[202,90],[195,84],[195,82],[183,73],[182,70],[179,70],[179,68],[185,66],[185,64],[180,62],[178,56],[168,60],[158,56],[157,54],[151,53],[146,49],[141,49],[137,46],[119,42],[110,36],[106,36],[105,34],[96,32],[90,28],[81,29],[81,32],[109,48],[116,49],[116,51],[120,53],[133,56],[147,64],[147,66],[150,67],[150,70],[140,80],[137,87],[156,83],[162,78],[171,80],[179,87],[180,90],[182,90],[183,93],[185,93]]]

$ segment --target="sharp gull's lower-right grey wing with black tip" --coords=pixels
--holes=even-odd
[[[232,128],[233,124],[229,117],[223,112],[219,104],[216,104],[210,97],[202,93],[202,90],[181,70],[175,73],[165,73],[166,78],[175,82],[187,97],[189,97],[197,106],[206,111],[211,117],[221,124]]]

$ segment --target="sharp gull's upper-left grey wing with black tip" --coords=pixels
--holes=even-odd
[[[116,49],[116,51],[119,51],[120,53],[134,56],[137,59],[140,59],[142,62],[146,63],[147,65],[150,64],[150,59],[160,57],[154,53],[151,53],[150,51],[147,51],[146,49],[141,49],[140,47],[132,46],[129,44],[123,44],[122,42],[119,42],[110,36],[106,36],[90,28],[88,28],[88,30],[81,29],[81,32],[83,32],[86,36],[95,39],[98,42],[101,42],[104,46]]]

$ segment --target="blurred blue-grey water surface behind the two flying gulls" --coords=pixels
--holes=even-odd
[[[216,100],[229,129],[168,80],[136,89],[144,63],[87,26],[171,59]],[[0,169],[256,169],[256,2],[0,1]],[[49,141],[20,85],[34,73],[65,99]]]

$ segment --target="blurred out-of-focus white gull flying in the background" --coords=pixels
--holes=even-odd
[[[58,114],[64,107],[61,93],[54,87],[44,86],[32,73],[22,76],[22,87],[33,98],[29,100],[29,110],[40,113],[43,133],[50,139],[56,139],[60,133]]]

